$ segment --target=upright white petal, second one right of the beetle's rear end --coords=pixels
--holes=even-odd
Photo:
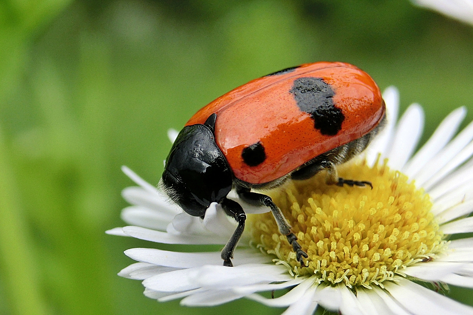
[[[389,167],[401,170],[409,160],[424,128],[424,111],[419,104],[412,104],[404,112],[394,134],[387,158]]]

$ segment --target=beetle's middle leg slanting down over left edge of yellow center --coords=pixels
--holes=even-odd
[[[238,193],[238,196],[248,204],[257,206],[263,205],[271,208],[272,215],[278,224],[279,232],[288,238],[288,242],[290,245],[292,245],[292,248],[296,253],[296,258],[299,261],[301,267],[305,267],[306,264],[303,257],[307,258],[308,256],[301,249],[302,247],[297,242],[296,235],[291,232],[291,226],[286,221],[286,218],[284,218],[284,214],[282,214],[281,209],[272,202],[271,197],[263,194],[253,193],[249,188],[238,187],[236,192]]]

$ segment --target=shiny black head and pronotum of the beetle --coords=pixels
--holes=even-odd
[[[162,187],[168,196],[193,216],[204,215],[210,203],[220,202],[232,188],[232,172],[212,127],[184,127],[163,172]]]

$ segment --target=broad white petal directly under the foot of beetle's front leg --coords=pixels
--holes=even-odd
[[[255,283],[289,281],[293,279],[287,268],[274,264],[244,264],[235,267],[205,265],[189,273],[189,279],[200,287],[209,289],[232,289]]]

